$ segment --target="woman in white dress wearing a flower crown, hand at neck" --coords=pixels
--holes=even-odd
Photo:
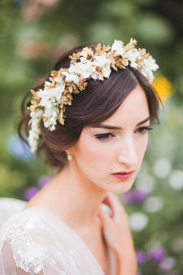
[[[31,125],[32,152],[44,150],[59,172],[3,227],[0,274],[136,274],[127,215],[113,193],[131,188],[158,121],[149,83],[158,66],[135,44],[74,49],[32,90],[21,126],[28,133]]]

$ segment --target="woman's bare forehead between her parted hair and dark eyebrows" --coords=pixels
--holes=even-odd
[[[125,121],[134,121],[138,124],[149,116],[149,106],[144,90],[137,86],[120,105],[117,111],[105,120],[106,123],[118,125]],[[104,123],[104,122],[102,122]]]

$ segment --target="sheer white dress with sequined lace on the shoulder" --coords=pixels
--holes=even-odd
[[[0,244],[0,275],[104,275],[84,241],[41,207],[10,218],[0,230]]]

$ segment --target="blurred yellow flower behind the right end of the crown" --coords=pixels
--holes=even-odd
[[[173,90],[172,83],[163,75],[157,75],[152,83],[162,102],[167,101]]]

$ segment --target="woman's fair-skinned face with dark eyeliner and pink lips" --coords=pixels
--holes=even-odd
[[[126,192],[142,163],[149,122],[145,92],[137,86],[111,117],[93,127],[84,127],[70,150],[70,164],[102,189]]]

